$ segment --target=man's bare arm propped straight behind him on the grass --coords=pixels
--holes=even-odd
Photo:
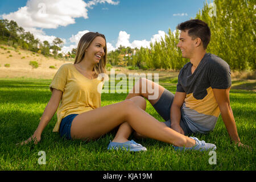
[[[228,89],[213,89],[214,97],[218,103],[218,107],[221,111],[221,116],[223,122],[228,131],[229,137],[236,143],[240,143],[240,138],[238,137],[236,122],[234,120],[233,111],[230,106],[229,101],[229,90]]]

